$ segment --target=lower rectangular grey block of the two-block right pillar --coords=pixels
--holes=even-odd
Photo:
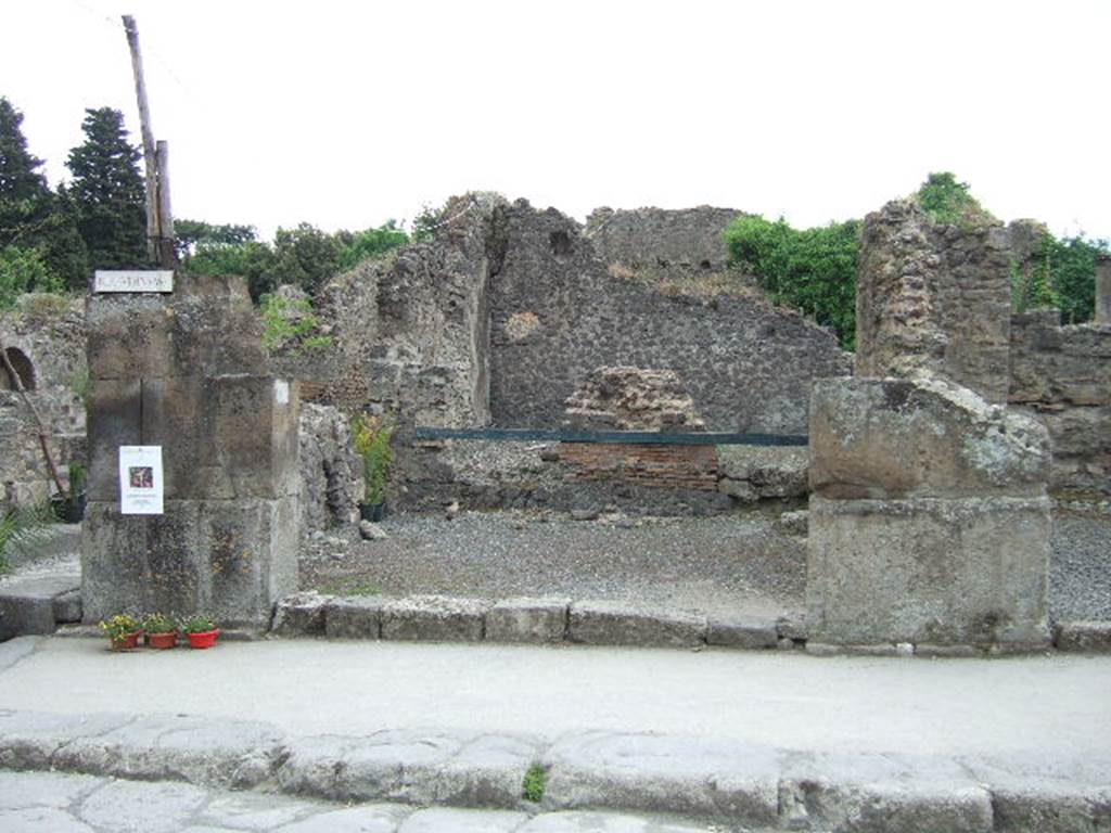
[[[807,622],[835,644],[1049,644],[1049,500],[810,501]]]

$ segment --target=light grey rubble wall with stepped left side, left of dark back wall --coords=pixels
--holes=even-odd
[[[436,242],[366,262],[316,299],[330,349],[276,358],[279,372],[310,382],[309,397],[348,413],[368,410],[407,424],[489,422],[487,283],[497,209],[458,198]]]

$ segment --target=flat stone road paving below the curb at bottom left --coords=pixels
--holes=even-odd
[[[0,771],[4,833],[707,833],[648,816],[338,805],[191,784]]]

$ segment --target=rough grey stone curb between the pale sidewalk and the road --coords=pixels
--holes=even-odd
[[[536,766],[547,787],[531,803],[522,784]],[[1111,753],[1054,770],[1033,757],[832,754],[651,733],[296,737],[250,721],[0,711],[0,769],[338,802],[634,811],[769,831],[1071,833],[1111,817]]]

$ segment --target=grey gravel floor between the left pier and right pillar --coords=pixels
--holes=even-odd
[[[524,512],[397,515],[383,541],[313,542],[301,586],[331,593],[629,599],[705,612],[801,611],[802,539],[772,519],[627,519]]]

